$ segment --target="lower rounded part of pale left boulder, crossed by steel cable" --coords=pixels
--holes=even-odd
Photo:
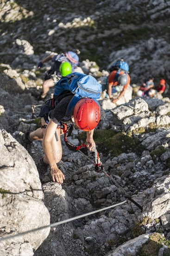
[[[7,189],[6,189],[7,190]],[[8,191],[8,190],[7,190]],[[32,233],[28,233],[23,236],[24,241],[28,241],[31,244],[32,249],[37,249],[41,243],[48,236],[50,229],[45,228],[39,231],[33,231],[33,229],[42,227],[43,225],[49,225],[50,215],[44,203],[32,198],[29,195],[25,195],[22,192],[1,194],[0,196],[0,220],[1,220],[1,232],[3,236],[11,234],[17,234],[32,230]],[[22,237],[22,236],[21,236]],[[11,239],[10,243],[14,241],[19,243],[19,239]],[[4,243],[6,248],[9,242]],[[22,242],[23,249],[27,248],[27,244]],[[31,248],[30,248],[31,249]],[[11,256],[15,256],[11,251]]]

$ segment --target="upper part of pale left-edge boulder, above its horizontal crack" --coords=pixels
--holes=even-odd
[[[5,130],[0,130],[1,187],[43,199],[38,171],[28,151]],[[24,161],[25,164],[22,164]]]

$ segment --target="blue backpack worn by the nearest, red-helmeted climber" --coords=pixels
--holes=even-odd
[[[74,72],[55,84],[54,99],[57,100],[60,95],[68,92],[75,94],[66,110],[66,115],[70,116],[73,114],[76,103],[82,98],[93,98],[99,105],[96,99],[100,98],[102,89],[101,84],[93,76]]]

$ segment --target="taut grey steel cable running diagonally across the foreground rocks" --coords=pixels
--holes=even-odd
[[[43,227],[40,227],[40,228],[37,228],[37,229],[31,229],[31,230],[28,230],[28,231],[25,231],[25,232],[22,232],[22,233],[19,233],[19,234],[15,234],[15,235],[12,235],[12,236],[5,236],[3,238],[0,238],[0,242],[6,241],[6,240],[14,238],[14,237],[23,236],[23,235],[26,235],[28,233],[35,232],[35,231],[38,231],[38,230],[42,230],[42,229],[45,229],[45,228],[56,227],[58,225],[61,225],[61,224],[67,223],[67,222],[71,222],[71,221],[74,221],[74,220],[77,220],[77,219],[80,219],[80,218],[83,218],[83,217],[86,217],[86,216],[89,216],[89,215],[92,215],[92,214],[95,214],[95,213],[98,213],[98,212],[101,212],[101,211],[105,211],[107,209],[110,209],[110,208],[116,207],[118,205],[121,205],[125,202],[127,202],[127,201],[125,200],[123,202],[119,202],[119,203],[113,204],[111,206],[108,206],[108,207],[105,207],[105,208],[102,208],[102,209],[99,209],[99,210],[95,210],[93,212],[88,212],[88,213],[85,213],[85,214],[82,214],[82,215],[79,215],[79,216],[76,216],[76,217],[69,218],[67,220],[63,220],[63,221],[60,221],[60,222],[55,222],[55,223],[52,223],[50,225],[46,225],[46,226],[43,226]]]

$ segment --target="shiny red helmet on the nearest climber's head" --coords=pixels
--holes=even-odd
[[[100,106],[90,98],[83,98],[76,103],[74,120],[76,126],[83,131],[93,130],[101,118]]]

